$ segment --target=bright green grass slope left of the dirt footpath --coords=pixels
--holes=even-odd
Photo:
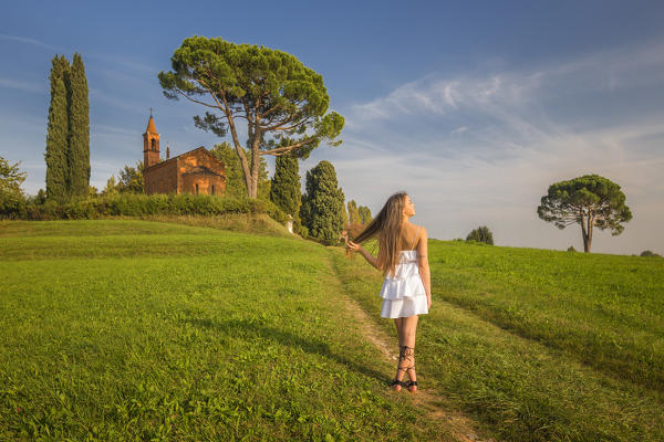
[[[120,220],[0,242],[0,440],[450,440],[388,391],[318,244]]]

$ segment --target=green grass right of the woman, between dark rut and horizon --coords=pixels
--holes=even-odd
[[[664,260],[432,244],[440,297],[664,391]]]

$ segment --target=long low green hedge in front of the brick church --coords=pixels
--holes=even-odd
[[[81,199],[64,204],[48,201],[28,203],[15,218],[28,220],[85,220],[110,215],[142,217],[148,214],[222,214],[267,213],[286,223],[288,217],[274,203],[253,199],[224,198],[210,194],[121,193]]]

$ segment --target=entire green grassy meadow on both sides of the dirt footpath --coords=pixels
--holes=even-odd
[[[395,335],[361,256],[162,221],[0,222],[0,440],[453,440],[343,305]],[[444,409],[505,441],[664,440],[664,260],[429,262],[415,356]]]

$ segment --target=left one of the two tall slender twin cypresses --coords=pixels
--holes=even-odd
[[[69,63],[63,56],[51,61],[51,105],[46,134],[46,198],[64,201],[69,197],[68,136],[69,113],[66,78]]]

